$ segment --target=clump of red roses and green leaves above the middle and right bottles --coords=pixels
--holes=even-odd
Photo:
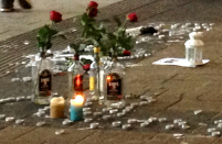
[[[118,18],[114,18],[118,29],[115,32],[108,32],[103,23],[96,23],[97,7],[97,2],[91,1],[86,12],[82,15],[82,37],[93,42],[94,46],[101,47],[103,55],[130,55],[129,51],[134,48],[134,40],[126,33],[126,23],[136,22],[138,19],[136,13],[128,14],[124,24]]]

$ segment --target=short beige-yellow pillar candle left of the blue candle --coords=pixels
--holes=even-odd
[[[63,97],[52,98],[50,102],[50,117],[63,118],[65,109],[65,100]]]

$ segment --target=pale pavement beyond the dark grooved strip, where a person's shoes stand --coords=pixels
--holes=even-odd
[[[51,23],[50,11],[62,13],[63,20],[82,14],[91,0],[31,0],[33,9],[23,10],[18,0],[14,12],[1,12],[0,41],[41,27]],[[120,0],[97,0],[99,9]]]

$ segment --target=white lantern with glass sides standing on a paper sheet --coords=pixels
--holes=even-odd
[[[191,66],[202,65],[202,48],[204,43],[200,40],[202,32],[192,32],[189,34],[186,45],[186,59]]]

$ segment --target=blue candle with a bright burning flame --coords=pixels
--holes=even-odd
[[[75,99],[71,99],[71,121],[80,121],[83,119],[84,99],[77,95]]]

